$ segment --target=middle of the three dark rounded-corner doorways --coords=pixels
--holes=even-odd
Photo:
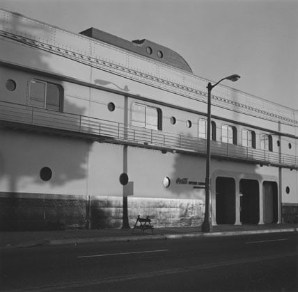
[[[253,179],[240,181],[240,222],[258,224],[260,221],[259,183]]]

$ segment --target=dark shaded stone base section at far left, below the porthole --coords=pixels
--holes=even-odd
[[[85,200],[0,197],[0,230],[85,228]]]

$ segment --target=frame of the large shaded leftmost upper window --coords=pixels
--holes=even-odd
[[[31,100],[33,100],[33,99],[31,99],[31,90],[32,90],[31,84],[33,82],[36,82],[36,83],[38,82],[38,83],[45,84],[44,106],[37,106],[37,105],[31,104]],[[48,86],[48,84],[51,84],[51,85],[56,86],[58,88],[58,92],[59,92],[59,106],[58,106],[58,110],[47,107],[47,86]],[[29,92],[29,95],[28,95],[28,104],[29,104],[29,106],[33,106],[33,107],[36,107],[36,108],[44,108],[44,109],[47,109],[48,111],[63,112],[64,88],[60,84],[54,83],[54,82],[51,82],[51,81],[41,80],[41,79],[30,79],[29,80],[29,90],[28,90],[28,92]]]

